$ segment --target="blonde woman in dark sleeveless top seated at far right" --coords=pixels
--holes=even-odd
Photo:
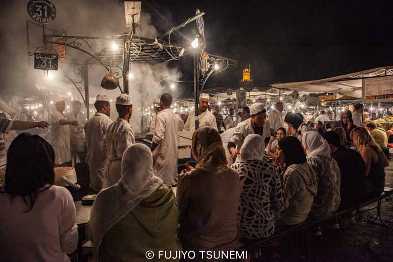
[[[356,127],[350,136],[365,161],[364,199],[367,201],[382,194],[385,188],[385,167],[389,166],[389,162],[364,127]]]

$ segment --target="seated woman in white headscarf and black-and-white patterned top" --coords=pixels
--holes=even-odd
[[[240,148],[241,161],[232,165],[242,185],[239,228],[245,244],[249,239],[271,236],[276,227],[275,212],[288,206],[277,169],[262,159],[264,147],[261,136],[248,135]]]

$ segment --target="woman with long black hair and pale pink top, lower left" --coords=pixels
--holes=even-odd
[[[53,185],[55,152],[37,135],[20,134],[7,155],[0,194],[1,261],[69,262],[78,244],[70,192]]]

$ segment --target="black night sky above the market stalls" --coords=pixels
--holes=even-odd
[[[209,52],[252,64],[258,86],[392,65],[392,1],[142,1],[156,26],[204,11]],[[168,26],[166,27],[168,29]],[[182,29],[196,29],[195,23]],[[241,68],[222,77],[235,85]],[[211,82],[209,83],[211,84]]]

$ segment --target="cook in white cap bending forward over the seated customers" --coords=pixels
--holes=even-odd
[[[270,137],[270,123],[266,119],[266,109],[262,103],[253,103],[250,106],[251,118],[240,122],[235,129],[230,141],[228,142],[228,150],[236,157],[240,154],[240,148],[243,145],[244,139],[250,134],[258,134],[263,140]],[[263,144],[263,145],[262,145]],[[262,143],[261,146],[265,146]],[[262,148],[263,151],[265,148]],[[240,156],[239,156],[240,157]]]

